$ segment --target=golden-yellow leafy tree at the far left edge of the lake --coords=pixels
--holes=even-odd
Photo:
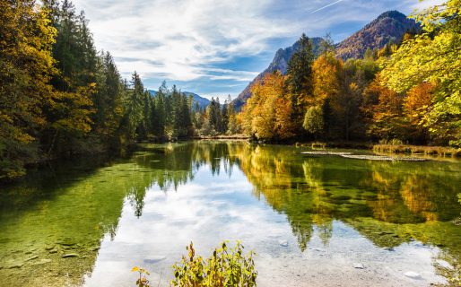
[[[51,50],[56,29],[48,9],[31,0],[0,1],[0,179],[24,174],[38,156],[46,125],[41,107],[50,101],[56,72]]]

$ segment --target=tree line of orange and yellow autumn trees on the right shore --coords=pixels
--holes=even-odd
[[[345,62],[328,38],[315,57],[302,35],[287,74],[268,74],[252,87],[240,114],[245,133],[265,141],[460,146],[460,6],[449,0],[416,13],[421,32]]]

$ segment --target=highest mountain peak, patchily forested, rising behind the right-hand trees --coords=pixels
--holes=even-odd
[[[336,45],[336,54],[344,60],[363,57],[365,51],[383,48],[389,42],[399,43],[404,33],[420,30],[419,24],[398,11],[382,13],[361,30]]]

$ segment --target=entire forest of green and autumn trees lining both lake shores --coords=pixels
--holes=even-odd
[[[163,83],[152,96],[136,72],[123,79],[68,0],[1,5],[0,180],[22,177],[30,163],[124,152],[139,141],[248,136],[461,146],[458,0],[413,14],[422,30],[359,59],[336,57],[328,37],[316,57],[303,35],[287,74],[255,83],[239,114],[231,98],[200,108],[176,86]],[[459,153],[382,144],[374,150]]]

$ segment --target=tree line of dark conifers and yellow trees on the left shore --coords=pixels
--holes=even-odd
[[[38,161],[235,130],[230,104],[194,109],[176,86],[152,97],[139,74],[123,79],[69,0],[6,0],[0,11],[0,180]]]

